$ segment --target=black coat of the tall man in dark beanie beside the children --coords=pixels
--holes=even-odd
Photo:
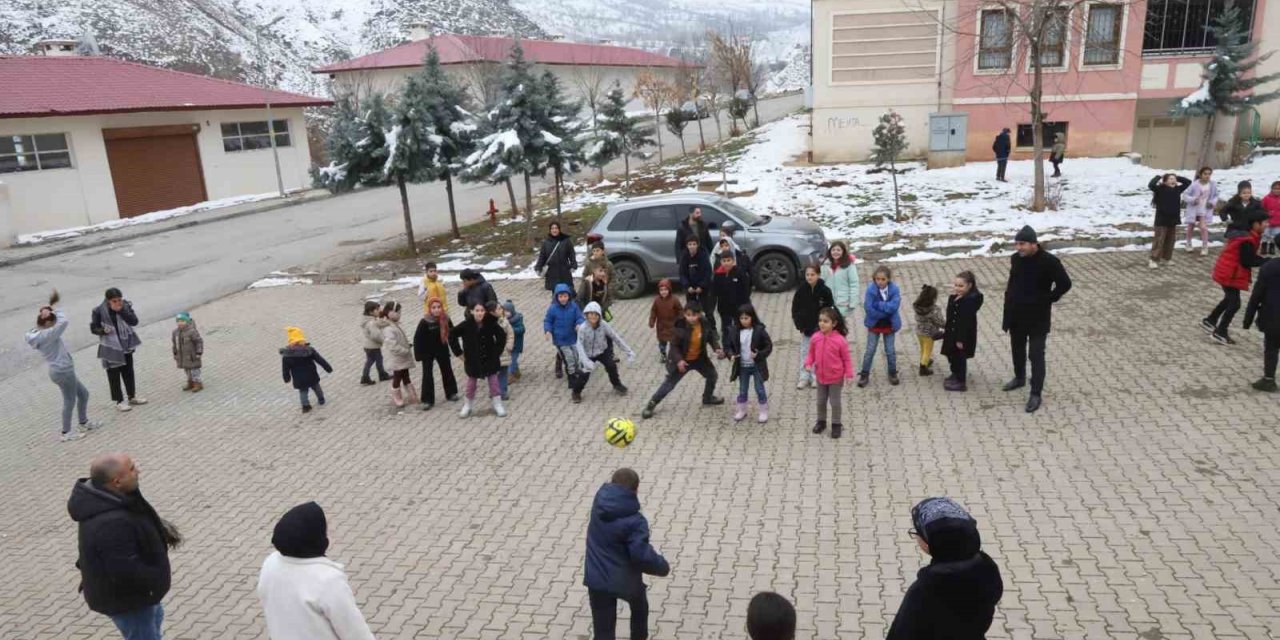
[[[1057,256],[1043,248],[1028,257],[1015,252],[1009,257],[1002,329],[1037,335],[1048,333],[1052,329],[1052,305],[1069,291],[1071,278]]]

